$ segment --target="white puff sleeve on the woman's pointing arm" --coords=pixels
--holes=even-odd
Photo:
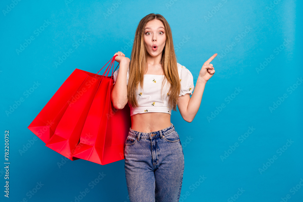
[[[185,95],[187,93],[189,93],[189,95],[192,95],[192,91],[195,88],[194,78],[191,72],[184,66],[181,67],[180,82],[181,82],[181,91],[179,96]]]

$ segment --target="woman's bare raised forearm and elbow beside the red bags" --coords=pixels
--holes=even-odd
[[[116,58],[118,58],[117,56]],[[128,102],[127,98],[127,85],[126,85],[126,75],[129,66],[129,58],[122,58],[119,63],[119,72],[112,89],[111,99],[114,108],[123,109]]]

